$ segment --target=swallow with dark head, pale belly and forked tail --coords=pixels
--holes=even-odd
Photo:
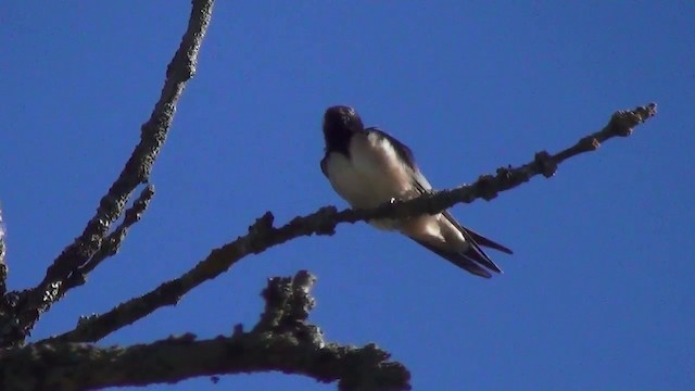
[[[324,138],[326,154],[321,172],[352,207],[372,209],[432,191],[415,164],[410,149],[376,127],[365,128],[353,108],[337,105],[326,110]],[[401,220],[369,220],[369,224],[400,231],[480,277],[490,278],[490,270],[502,272],[481,245],[511,254],[506,247],[458,224],[448,211]]]

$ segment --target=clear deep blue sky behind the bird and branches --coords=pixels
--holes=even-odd
[[[76,5],[77,3],[73,3]],[[189,3],[3,2],[0,200],[10,285],[25,288],[81,231],[130,154]],[[629,139],[493,202],[457,206],[515,250],[472,277],[365,224],[302,238],[102,343],[201,338],[253,325],[268,276],[309,269],[312,320],[377,342],[416,390],[684,390],[695,382],[692,236],[695,5],[687,1],[220,1],[199,73],[122,252],[35,330],[174,278],[270,210],[279,223],[345,206],[320,173],[328,105],[354,105],[412,146],[440,188],[569,146],[615,110],[655,101]],[[155,390],[330,390],[285,375]]]

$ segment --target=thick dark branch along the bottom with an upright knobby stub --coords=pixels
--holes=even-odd
[[[230,337],[197,341],[185,335],[127,348],[52,341],[9,349],[0,356],[0,388],[68,391],[276,370],[338,381],[339,390],[409,390],[409,373],[388,361],[389,353],[374,344],[327,344],[318,327],[307,324],[314,281],[306,272],[271,278],[258,325],[249,332],[237,326]]]

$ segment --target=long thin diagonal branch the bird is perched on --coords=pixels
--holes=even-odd
[[[601,142],[620,136],[656,115],[656,104],[632,111],[615,113],[599,131],[582,138],[574,146],[551,155],[539,152],[533,161],[517,168],[498,168],[496,175],[481,176],[475,184],[451,190],[435,191],[409,201],[396,201],[375,210],[343,210],[325,206],[307,216],[295,217],[282,227],[273,226],[274,216],[266,212],[250,228],[249,234],[213,250],[210,255],[179,278],[166,281],[149,293],[121,303],[113,310],[81,321],[74,330],[54,337],[58,341],[98,341],[109,333],[132,324],[155,310],[176,304],[180,298],[202,282],[215,278],[231,265],[250,254],[303,236],[333,235],[336,226],[372,218],[407,218],[422,213],[435,214],[457,203],[471,203],[478,199],[492,200],[501,191],[510,190],[532,177],[552,177],[561,162],[578,154],[594,151]]]

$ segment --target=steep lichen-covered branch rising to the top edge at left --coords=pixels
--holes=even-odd
[[[188,28],[179,49],[166,70],[166,80],[150,119],[141,127],[140,143],[101,199],[94,216],[83,234],[55,258],[47,269],[43,280],[35,288],[21,293],[17,307],[18,328],[22,338],[31,330],[40,314],[61,298],[61,286],[78,267],[99,252],[111,225],[118,219],[132,191],[147,182],[152,165],[166,140],[178,103],[187,81],[195,74],[198,53],[210,25],[213,0],[193,0]],[[17,341],[0,341],[0,345]]]

